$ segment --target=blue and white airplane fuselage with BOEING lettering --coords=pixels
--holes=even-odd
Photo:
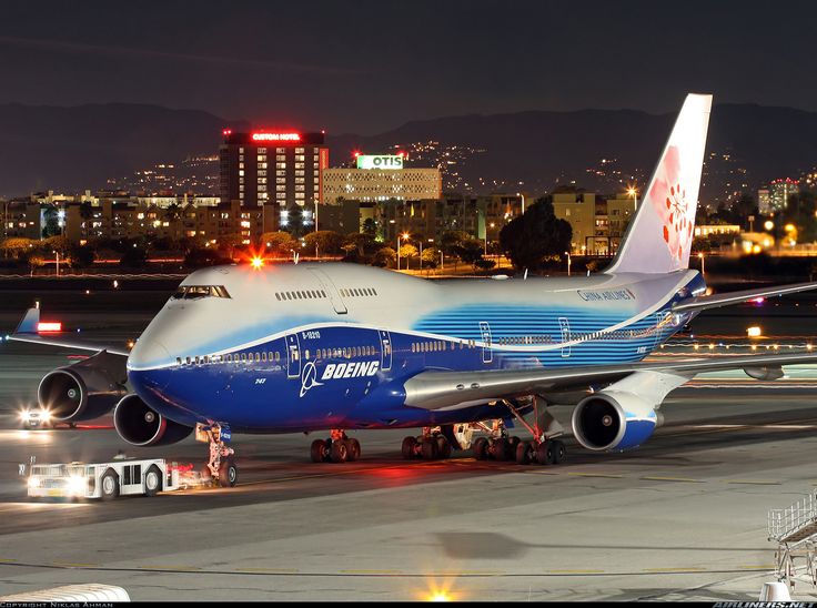
[[[428,369],[635,362],[686,324],[696,271],[427,281],[353,264],[196,271],[128,361],[134,391],[181,424],[238,432],[433,426],[505,417],[496,405],[408,407]]]

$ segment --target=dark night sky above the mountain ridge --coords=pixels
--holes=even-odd
[[[0,103],[137,102],[372,134],[522,110],[817,111],[817,2],[162,1],[0,6]]]

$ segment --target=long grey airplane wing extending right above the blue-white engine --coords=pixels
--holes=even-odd
[[[658,372],[692,378],[705,372],[744,369],[752,377],[780,377],[785,365],[817,364],[817,353],[787,355],[719,356],[616,365],[577,365],[539,369],[494,369],[485,372],[421,372],[405,385],[405,404],[423,409],[456,409],[475,403],[522,395],[588,387],[612,383],[636,372]]]

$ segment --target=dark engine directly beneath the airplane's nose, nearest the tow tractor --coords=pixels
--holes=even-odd
[[[113,426],[125,442],[141,447],[174,444],[193,432],[191,426],[169,420],[135,394],[125,395],[117,404]]]

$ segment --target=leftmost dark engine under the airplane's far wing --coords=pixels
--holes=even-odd
[[[37,388],[40,407],[59,422],[99,418],[127,393],[125,357],[103,351],[49,372]]]

